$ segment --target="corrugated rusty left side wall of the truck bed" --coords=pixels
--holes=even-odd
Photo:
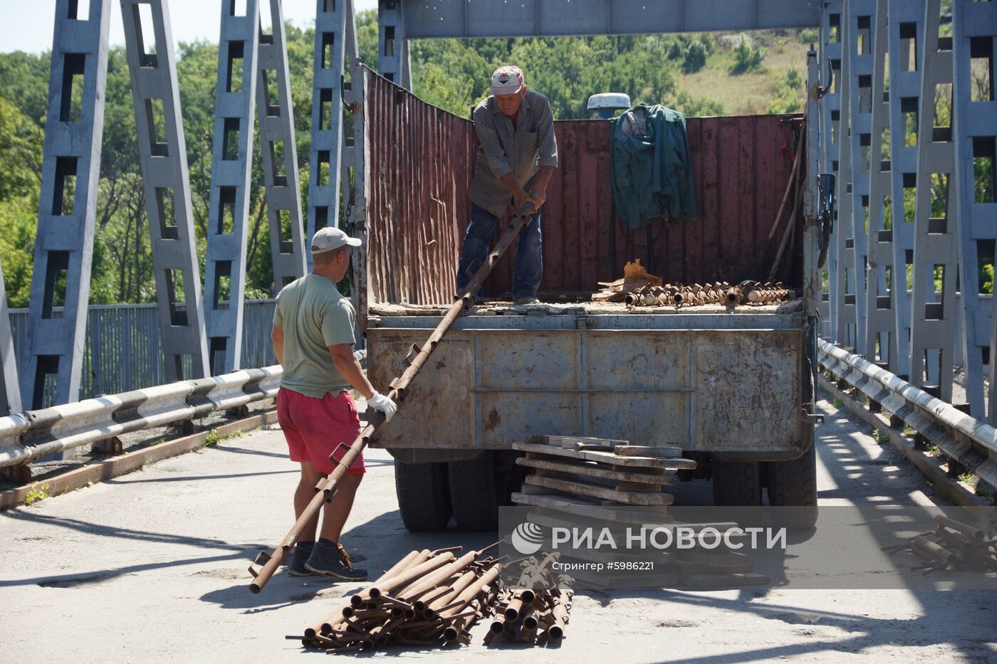
[[[474,126],[365,74],[372,302],[450,302],[471,209]]]

